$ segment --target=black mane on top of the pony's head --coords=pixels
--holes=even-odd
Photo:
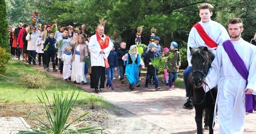
[[[204,46],[199,46],[199,47],[193,47],[190,50],[191,56],[192,57],[202,57],[203,59],[208,59],[210,63],[212,63],[214,59],[214,54],[211,50],[208,49],[208,51],[204,50]]]

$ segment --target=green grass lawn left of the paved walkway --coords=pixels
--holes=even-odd
[[[74,85],[61,82],[56,78],[52,78],[44,72],[33,70],[31,66],[25,63],[11,59],[7,64],[7,68],[7,72],[0,76],[0,106],[8,105],[10,102],[37,103],[39,102],[37,96],[41,97],[41,91],[45,91],[48,97],[52,98],[53,93],[61,90],[65,93],[73,90],[76,90],[76,93],[79,92],[77,99],[78,104],[90,104],[90,98],[92,98],[100,105],[108,105],[108,103],[104,102],[101,98],[95,95],[92,95],[91,97],[89,93],[82,89],[77,88]],[[24,79],[24,75],[22,74],[27,75],[26,78],[31,77],[31,81],[37,81],[35,80],[37,75],[45,75],[46,78],[40,81],[46,81],[48,84],[43,85],[43,89],[28,88],[27,84],[22,82],[22,79]],[[40,81],[38,81],[38,83],[40,83]]]

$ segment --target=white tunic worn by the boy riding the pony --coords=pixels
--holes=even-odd
[[[199,24],[203,27],[206,34],[213,39],[217,45],[222,44],[224,41],[229,39],[229,35],[227,30],[224,28],[223,25],[219,24],[216,21],[210,20],[208,22],[202,22],[200,21]],[[189,39],[188,39],[188,50],[187,50],[187,59],[189,62],[189,66],[191,65],[191,55],[190,55],[190,49],[189,47],[198,47],[198,46],[206,46],[208,47],[205,42],[203,41],[202,37],[199,35],[197,30],[193,27],[189,33]],[[210,47],[208,47],[210,48]],[[215,54],[216,48],[210,48],[213,50],[213,53]]]

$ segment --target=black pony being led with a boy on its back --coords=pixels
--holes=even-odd
[[[205,111],[205,129],[209,126],[209,133],[213,133],[214,106],[217,97],[217,86],[210,91],[204,91],[201,86],[208,70],[214,60],[214,54],[207,47],[190,47],[192,71],[188,77],[188,85],[191,89],[190,97],[195,108],[195,122],[197,134],[203,133],[203,112]],[[205,88],[208,88],[207,86]]]

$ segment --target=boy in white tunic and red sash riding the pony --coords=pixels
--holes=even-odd
[[[213,15],[213,6],[208,3],[203,3],[198,6],[199,9],[199,17],[201,18],[201,21],[196,23],[200,24],[202,26],[202,30],[205,31],[205,36],[209,37],[212,42],[209,41],[209,39],[203,39],[202,35],[199,32],[199,29],[194,25],[189,33],[189,39],[188,39],[188,50],[187,50],[187,60],[189,63],[188,68],[183,72],[183,82],[185,85],[185,91],[186,91],[186,97],[190,96],[190,88],[187,84],[187,79],[189,76],[189,73],[192,71],[192,65],[191,65],[191,55],[190,55],[190,49],[189,47],[199,47],[199,46],[206,46],[208,49],[213,50],[215,53],[215,49],[217,48],[217,45],[222,44],[224,41],[229,39],[229,35],[227,30],[224,28],[222,24],[219,24],[216,21],[211,20],[211,16]],[[211,46],[209,44],[215,44],[214,46]],[[188,103],[185,103],[183,106],[184,109],[192,109],[192,102],[188,101]]]

